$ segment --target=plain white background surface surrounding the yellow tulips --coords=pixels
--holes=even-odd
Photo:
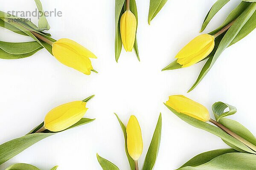
[[[183,94],[211,110],[214,102],[234,105],[238,120],[252,133],[255,106],[255,38],[253,31],[227,48],[198,85],[186,94],[203,63],[175,71],[163,71],[177,52],[197,36],[205,15],[215,0],[169,0],[148,26],[149,0],[137,0],[138,45],[141,62],[134,51],[122,49],[119,63],[114,54],[114,0],[41,0],[45,11],[62,11],[62,17],[48,17],[55,39],[75,40],[98,57],[92,59],[99,74],[90,76],[59,63],[45,49],[32,57],[0,60],[0,143],[23,136],[41,123],[52,108],[95,94],[85,117],[92,122],[58,133],[34,144],[0,165],[34,164],[42,170],[59,165],[59,170],[101,170],[96,153],[120,170],[129,170],[124,139],[117,113],[125,123],[137,116],[143,134],[142,167],[159,113],[163,116],[162,140],[155,170],[172,170],[193,156],[227,148],[216,136],[196,129],[175,116],[164,105],[169,95]],[[240,0],[232,0],[214,17],[204,33],[218,27]],[[33,0],[1,0],[2,11],[33,11]],[[37,22],[36,18],[32,18]],[[0,28],[2,41],[30,41]],[[212,114],[212,112],[211,112]],[[213,115],[211,115],[213,117]]]

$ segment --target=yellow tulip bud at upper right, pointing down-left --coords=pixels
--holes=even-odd
[[[195,37],[176,55],[177,63],[184,68],[200,62],[212,52],[214,44],[212,35],[201,34]]]

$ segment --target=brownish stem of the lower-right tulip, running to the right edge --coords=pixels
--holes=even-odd
[[[210,119],[209,122],[213,123],[214,125],[218,126],[219,128],[221,128],[222,130],[224,130],[225,132],[227,132],[227,134],[229,134],[230,136],[233,136],[234,138],[236,138],[237,140],[239,140],[240,142],[242,142],[243,144],[245,144],[247,147],[250,147],[252,150],[256,151],[256,146],[252,143],[250,143],[249,141],[245,140],[244,138],[242,138],[241,136],[237,135],[236,133],[232,132],[231,130],[229,130],[227,127],[221,125],[219,122],[216,122],[213,119]]]

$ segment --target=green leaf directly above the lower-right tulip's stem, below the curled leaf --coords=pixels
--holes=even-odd
[[[256,145],[255,136],[250,132],[250,130],[248,130],[246,127],[241,125],[239,122],[236,122],[235,120],[232,120],[232,119],[223,118],[219,120],[219,123],[221,123],[221,125],[224,125],[228,129],[230,129],[237,135],[241,136],[245,140],[249,141],[250,143]]]

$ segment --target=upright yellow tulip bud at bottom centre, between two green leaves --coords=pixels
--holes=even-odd
[[[137,161],[143,151],[143,141],[140,125],[135,116],[130,117],[126,128],[126,133],[128,153],[134,161]]]

